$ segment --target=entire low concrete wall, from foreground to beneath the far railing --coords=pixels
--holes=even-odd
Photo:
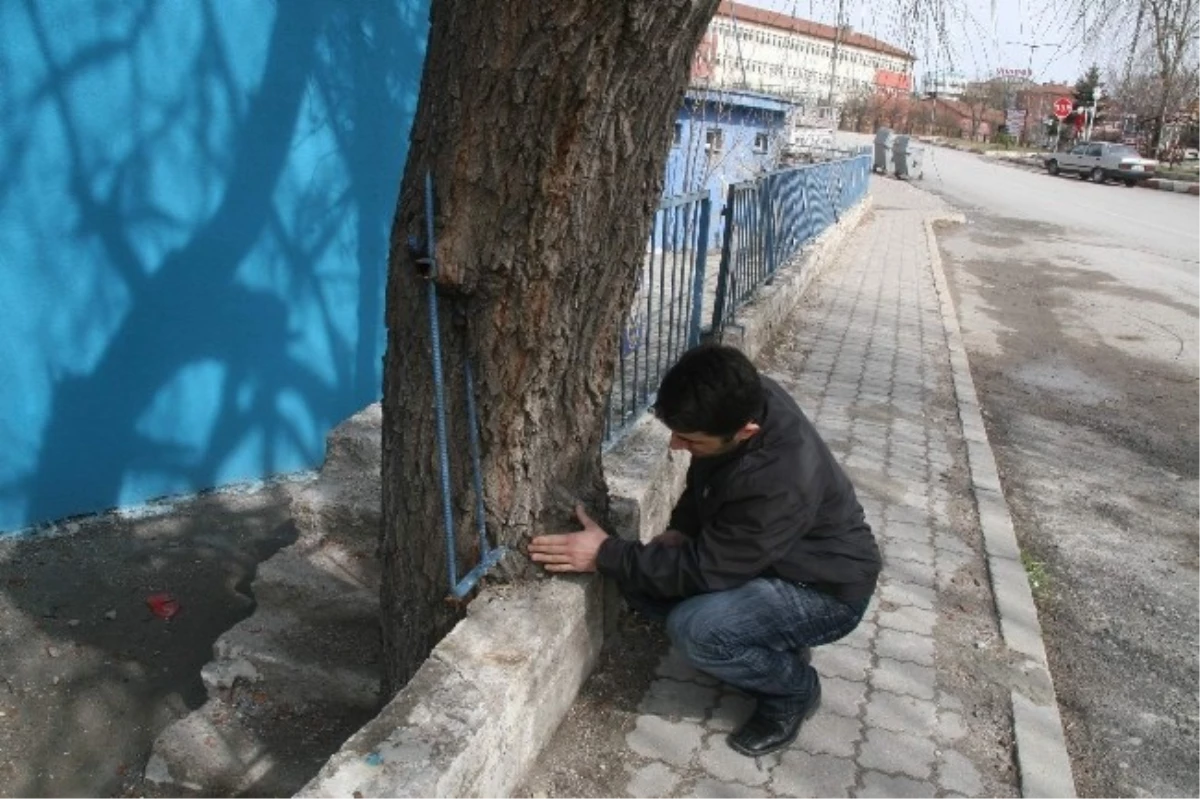
[[[805,247],[725,341],[751,358],[832,262],[870,198]],[[613,533],[661,531],[688,459],[648,414],[605,455]],[[413,680],[296,794],[301,799],[505,797],[566,715],[600,654],[617,602],[594,576],[486,589]]]

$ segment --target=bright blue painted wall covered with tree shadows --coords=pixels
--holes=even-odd
[[[319,464],[379,395],[428,0],[0,0],[0,531]]]

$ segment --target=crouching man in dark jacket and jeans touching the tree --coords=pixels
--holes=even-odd
[[[810,648],[866,611],[880,572],[871,528],[812,423],[740,352],[685,353],[654,413],[671,449],[692,457],[668,529],[626,541],[580,507],[582,531],[536,537],[529,552],[548,571],[616,579],[635,611],[666,620],[695,668],[757,699],[730,746],[778,751],[821,701]]]

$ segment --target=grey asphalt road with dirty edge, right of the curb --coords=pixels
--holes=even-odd
[[[932,149],[1081,797],[1200,785],[1200,198]]]

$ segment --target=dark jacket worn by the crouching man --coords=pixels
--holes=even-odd
[[[682,597],[755,577],[805,583],[845,601],[866,599],[880,551],[854,487],[812,422],[774,380],[761,431],[732,452],[692,458],[670,528],[683,546],[610,537],[601,573],[626,590]]]

